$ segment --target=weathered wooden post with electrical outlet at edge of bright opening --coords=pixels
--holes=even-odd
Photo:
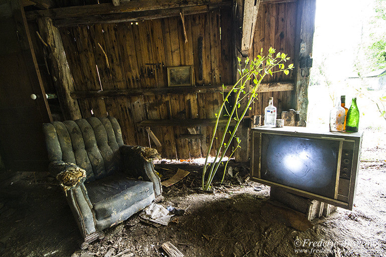
[[[297,2],[297,28],[295,42],[295,104],[294,107],[300,113],[299,126],[305,127],[308,108],[308,84],[310,81],[309,69],[300,69],[299,60],[312,54],[312,44],[315,31],[316,0],[299,0]],[[305,52],[300,54],[300,43],[305,42]]]

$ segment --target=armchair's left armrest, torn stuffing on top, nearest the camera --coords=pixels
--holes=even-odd
[[[73,163],[51,162],[49,169],[61,183],[67,201],[84,238],[97,233],[96,218],[92,203],[84,186],[86,171]]]

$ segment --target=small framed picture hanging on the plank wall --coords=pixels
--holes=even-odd
[[[167,67],[167,85],[183,87],[193,85],[191,66]]]

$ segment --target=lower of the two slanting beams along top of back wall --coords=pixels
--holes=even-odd
[[[95,24],[95,23],[139,22],[143,20],[154,20],[154,19],[179,16],[181,12],[183,12],[184,16],[203,14],[225,6],[230,7],[231,2],[205,5],[205,6],[192,6],[192,7],[183,7],[183,8],[143,11],[143,12],[117,13],[117,14],[108,14],[108,15],[84,16],[84,17],[77,17],[77,18],[59,19],[59,20],[55,20],[55,25],[57,27],[72,27],[72,26],[88,25],[88,24]]]

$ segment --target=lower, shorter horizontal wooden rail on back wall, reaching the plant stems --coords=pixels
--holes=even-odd
[[[227,125],[228,119],[220,119],[219,126]],[[216,119],[185,119],[185,120],[144,120],[137,123],[139,128],[157,128],[157,127],[208,127],[214,126]],[[231,125],[235,125],[232,121]]]

